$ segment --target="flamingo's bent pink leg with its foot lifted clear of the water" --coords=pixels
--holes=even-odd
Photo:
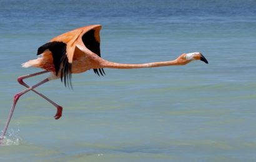
[[[40,75],[40,74],[44,74],[46,72],[49,72],[49,71],[43,71],[43,72],[38,72],[38,73],[35,73],[35,74],[29,74],[29,75],[24,75],[24,76],[21,76],[17,79],[17,81],[21,84],[21,85],[24,85],[24,87],[27,87],[29,88],[29,85],[27,85],[26,83],[23,82],[23,79],[27,79],[29,77],[34,77],[36,75]],[[52,105],[54,105],[54,107],[57,108],[57,113],[56,115],[54,116],[54,118],[57,120],[59,118],[61,118],[61,115],[62,115],[62,107],[57,105],[57,103],[53,102],[52,100],[50,100],[49,98],[47,98],[45,95],[43,95],[42,93],[39,93],[37,92],[36,90],[32,89],[33,92],[37,93],[37,95],[41,96],[42,98],[46,99],[49,103],[52,103]]]

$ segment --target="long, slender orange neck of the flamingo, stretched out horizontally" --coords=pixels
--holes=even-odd
[[[163,67],[170,65],[180,65],[176,60],[163,61],[163,62],[150,62],[145,64],[120,64],[116,62],[109,62],[104,60],[102,66],[112,69],[139,69],[139,68],[149,68],[149,67]]]

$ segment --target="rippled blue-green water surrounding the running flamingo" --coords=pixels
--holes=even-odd
[[[37,48],[102,24],[107,60],[142,63],[202,52],[184,67],[92,70],[20,98],[0,161],[255,161],[255,1],[0,1],[0,127]],[[47,75],[27,80],[32,85]]]

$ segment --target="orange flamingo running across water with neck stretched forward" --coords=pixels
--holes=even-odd
[[[164,62],[150,62],[145,64],[119,64],[116,62],[110,62],[101,58],[100,51],[100,36],[99,32],[101,25],[91,25],[74,29],[73,31],[66,32],[60,36],[54,37],[51,41],[42,45],[37,50],[38,58],[29,60],[22,64],[22,67],[39,67],[44,69],[41,72],[34,74],[24,75],[17,78],[17,82],[26,87],[25,90],[16,93],[9,113],[9,116],[0,136],[0,141],[6,134],[7,127],[11,120],[14,108],[16,106],[19,97],[25,93],[32,91],[41,96],[49,103],[57,108],[57,113],[54,118],[57,120],[62,116],[62,107],[57,105],[45,95],[35,90],[36,87],[43,83],[49,82],[54,79],[61,79],[66,87],[72,88],[71,74],[79,74],[93,69],[97,75],[104,75],[103,68],[112,69],[138,69],[138,68],[150,68],[150,67],[162,67],[170,65],[185,65],[192,60],[202,60],[208,64],[207,59],[200,52],[192,52],[188,54],[182,54],[175,60],[168,60]],[[34,77],[36,75],[50,73],[49,77],[42,80],[35,85],[29,86],[23,80]]]

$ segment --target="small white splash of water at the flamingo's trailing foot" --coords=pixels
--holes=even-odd
[[[0,138],[0,146],[19,145],[21,143],[21,138],[19,137],[19,129],[9,130],[6,132],[6,136]]]

